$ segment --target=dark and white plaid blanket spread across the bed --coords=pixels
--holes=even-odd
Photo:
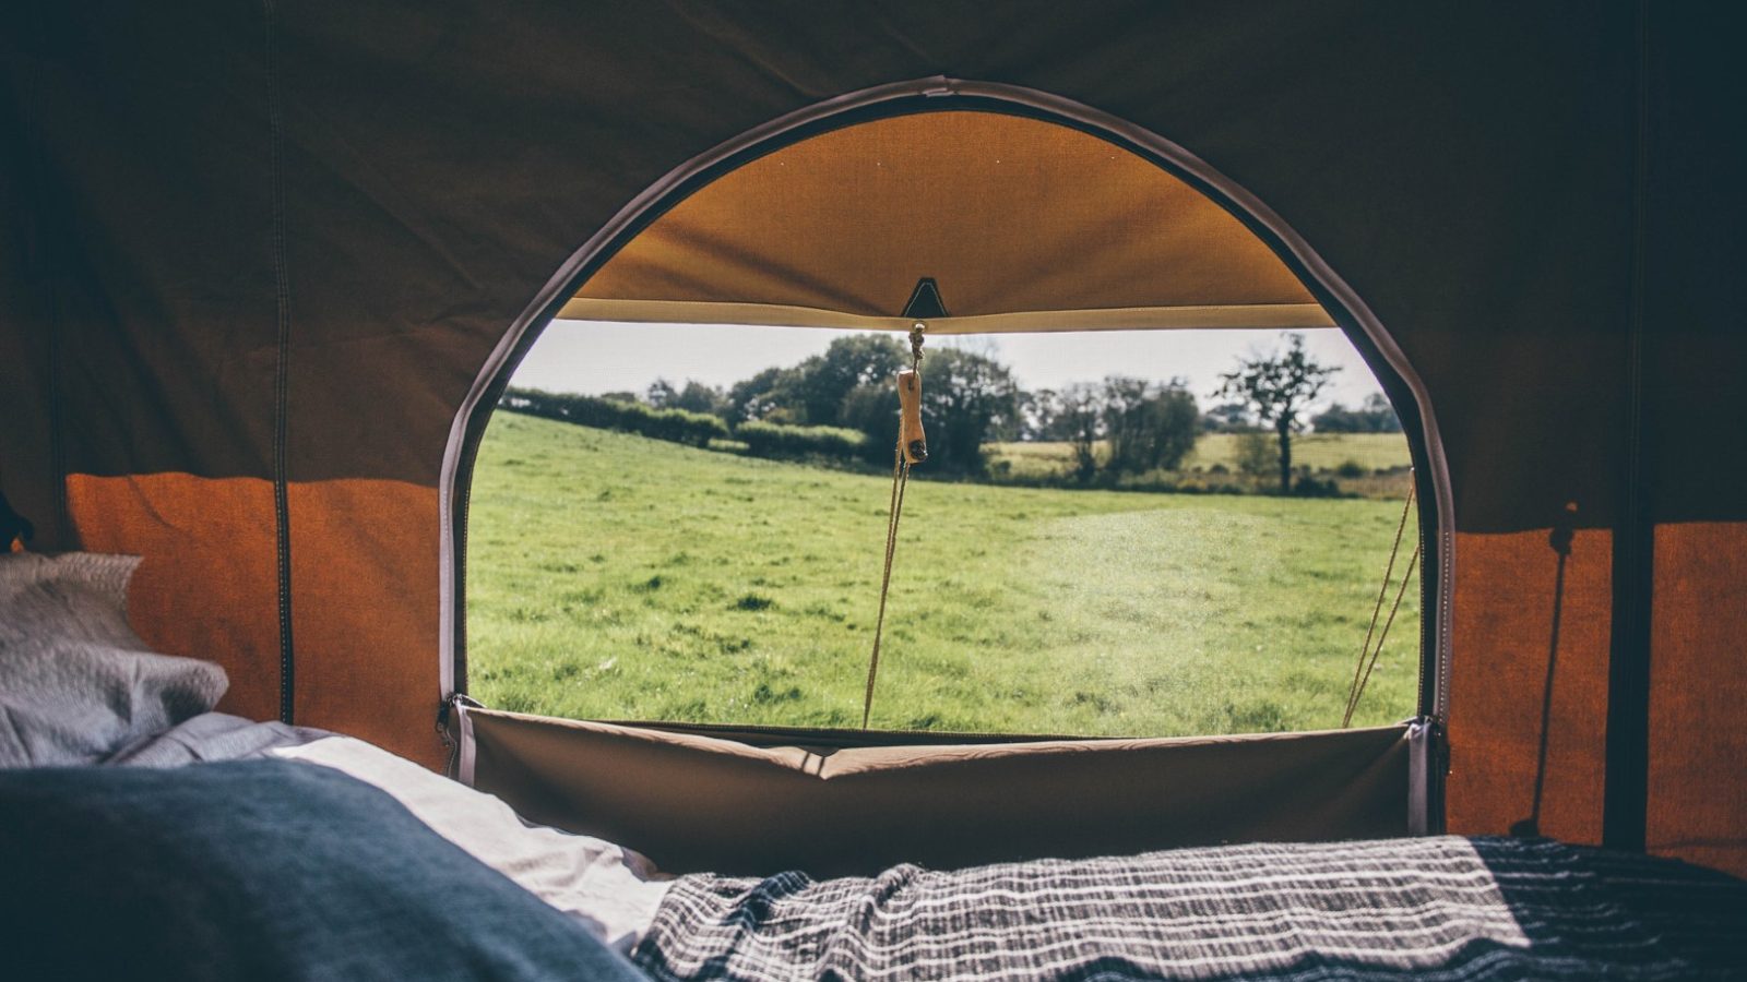
[[[678,979],[1744,979],[1747,884],[1515,839],[1176,849],[816,882],[680,877]]]

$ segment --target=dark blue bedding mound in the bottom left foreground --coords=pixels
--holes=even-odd
[[[0,772],[0,975],[632,982],[386,793],[290,760]]]

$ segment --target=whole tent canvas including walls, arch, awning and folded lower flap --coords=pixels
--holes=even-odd
[[[1649,3],[23,5],[0,489],[220,709],[662,868],[1548,835],[1747,874],[1747,133]],[[473,458],[554,318],[1340,327],[1424,529],[1392,727],[940,743],[466,697]]]

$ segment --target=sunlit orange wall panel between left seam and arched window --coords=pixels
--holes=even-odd
[[[314,481],[288,500],[297,722],[440,769],[437,489]]]

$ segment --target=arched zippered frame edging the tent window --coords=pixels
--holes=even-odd
[[[535,339],[582,288],[582,285],[625,243],[667,208],[716,176],[763,154],[797,143],[819,131],[853,126],[877,115],[905,115],[970,108],[1045,119],[1081,129],[1127,149],[1167,173],[1191,183],[1244,222],[1315,295],[1347,334],[1384,384],[1403,416],[1413,454],[1419,491],[1419,521],[1424,545],[1420,573],[1420,692],[1417,715],[1429,727],[1429,765],[1415,769],[1417,800],[1424,800],[1426,830],[1443,830],[1443,720],[1448,718],[1452,582],[1454,582],[1454,494],[1431,397],[1419,372],[1366,302],[1281,215],[1216,168],[1150,129],[1088,105],[1039,89],[1001,82],[975,82],[935,75],[875,86],[812,103],[699,154],[680,164],[631,199],[578,250],[564,259],[540,292],[498,341],[468,388],[449,428],[438,482],[440,510],[440,617],[438,671],[442,699],[466,690],[466,519],[473,461],[479,440],[498,397]],[[1422,795],[1422,797],[1420,797]]]

